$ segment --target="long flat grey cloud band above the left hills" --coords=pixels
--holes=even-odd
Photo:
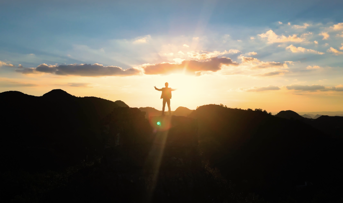
[[[101,64],[69,64],[69,65],[47,65],[41,64],[37,68],[20,68],[16,70],[23,74],[51,73],[56,75],[76,76],[129,76],[138,75],[140,71],[135,68],[123,70],[116,66],[103,66]]]

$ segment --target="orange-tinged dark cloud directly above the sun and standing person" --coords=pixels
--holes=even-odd
[[[189,60],[183,61],[181,64],[175,63],[161,63],[143,66],[146,75],[168,75],[172,73],[187,73],[195,74],[199,71],[212,71],[216,72],[221,70],[222,65],[238,66],[239,64],[233,62],[230,58],[213,57],[205,61]]]

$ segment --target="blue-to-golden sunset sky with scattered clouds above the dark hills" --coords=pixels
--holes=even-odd
[[[0,0],[0,92],[343,110],[343,1]],[[25,105],[25,101],[23,101]]]

